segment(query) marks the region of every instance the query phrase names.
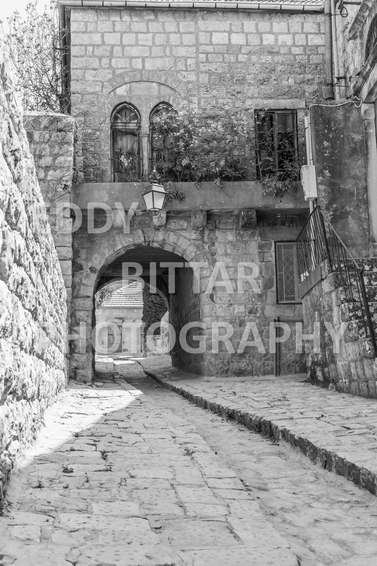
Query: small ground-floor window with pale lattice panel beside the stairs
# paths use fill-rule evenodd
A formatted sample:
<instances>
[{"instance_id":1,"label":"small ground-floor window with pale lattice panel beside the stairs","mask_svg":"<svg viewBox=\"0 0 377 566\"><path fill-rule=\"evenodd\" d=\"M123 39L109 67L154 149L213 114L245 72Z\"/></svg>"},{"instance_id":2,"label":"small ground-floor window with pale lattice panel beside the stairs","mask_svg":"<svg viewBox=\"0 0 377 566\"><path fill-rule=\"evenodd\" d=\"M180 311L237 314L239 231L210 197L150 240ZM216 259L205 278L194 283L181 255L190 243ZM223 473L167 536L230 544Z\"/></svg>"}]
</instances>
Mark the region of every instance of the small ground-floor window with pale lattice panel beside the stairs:
<instances>
[{"instance_id":1,"label":"small ground-floor window with pale lattice panel beside the stairs","mask_svg":"<svg viewBox=\"0 0 377 566\"><path fill-rule=\"evenodd\" d=\"M278 303L300 303L296 242L275 242Z\"/></svg>"}]
</instances>

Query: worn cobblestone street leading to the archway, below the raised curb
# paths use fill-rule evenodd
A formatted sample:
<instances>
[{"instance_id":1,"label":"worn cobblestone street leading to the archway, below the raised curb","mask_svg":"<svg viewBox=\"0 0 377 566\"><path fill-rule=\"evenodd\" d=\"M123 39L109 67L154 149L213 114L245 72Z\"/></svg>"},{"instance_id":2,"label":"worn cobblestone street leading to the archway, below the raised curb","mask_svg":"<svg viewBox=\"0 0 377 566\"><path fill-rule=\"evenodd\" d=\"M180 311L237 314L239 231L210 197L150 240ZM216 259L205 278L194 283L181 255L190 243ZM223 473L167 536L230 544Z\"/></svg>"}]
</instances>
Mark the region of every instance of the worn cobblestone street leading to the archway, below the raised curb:
<instances>
[{"instance_id":1,"label":"worn cobblestone street leading to the archway, below the raised curb","mask_svg":"<svg viewBox=\"0 0 377 566\"><path fill-rule=\"evenodd\" d=\"M375 496L116 368L47 411L11 481L2 565L375 564Z\"/></svg>"}]
</instances>

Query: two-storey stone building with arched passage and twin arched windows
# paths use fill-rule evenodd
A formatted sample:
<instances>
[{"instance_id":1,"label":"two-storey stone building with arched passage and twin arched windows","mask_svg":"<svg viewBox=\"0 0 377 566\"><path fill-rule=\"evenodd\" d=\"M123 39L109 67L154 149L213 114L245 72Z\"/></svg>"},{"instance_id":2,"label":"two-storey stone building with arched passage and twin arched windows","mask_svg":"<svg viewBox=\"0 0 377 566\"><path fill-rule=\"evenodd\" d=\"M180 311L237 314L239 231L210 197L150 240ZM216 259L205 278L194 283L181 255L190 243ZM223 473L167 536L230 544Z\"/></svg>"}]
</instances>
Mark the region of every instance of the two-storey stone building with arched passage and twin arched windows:
<instances>
[{"instance_id":1,"label":"two-storey stone building with arched passage and twin arched windows","mask_svg":"<svg viewBox=\"0 0 377 566\"><path fill-rule=\"evenodd\" d=\"M303 354L296 353L293 338L278 345L278 351L270 351L270 341L271 333L275 339L274 324L287 323L293 336L296 322L302 321L294 241L309 205L297 183L296 192L278 197L263 189L260 155L253 144L258 138L255 117L267 111L276 147L278 139L289 138L289 149L306 160L305 112L329 88L322 2L199 1L188 6L151 1L140 7L137 2L126 6L105 0L93 8L86 0L80 5L59 0L59 6L62 25L70 31L66 86L83 138L84 182L72 192L83 223L73 233L71 335L78 335L80 323L92 328L94 293L105 282L122 278L123 262L140 263L146 281L154 262L176 336L187 331L188 349L178 341L172 350L175 366L216 375L304 371ZM145 183L129 182L137 179L123 174L121 158L132 153L138 176L148 174L158 153L151 140L155 117L162 108L174 112L182 106L200 115L240 112L249 120L248 140L237 140L245 171L239 180L220 186L175 182L185 200L172 200L152 218L142 212ZM140 205L127 234L118 209L122 205L128 211L135 201ZM98 203L113 213L107 231L101 231L105 220ZM86 223L86 211L93 207L97 234L96 228L88 233ZM175 293L167 289L166 262L185 266L176 268ZM195 274L189 262L202 264L200 293L193 293ZM249 282L239 290L242 264L249 280L255 278L258 292ZM220 285L222 265L231 292ZM216 339L216 333L228 333L224 324L232 327L230 344ZM255 342L245 345L259 338L259 348ZM72 341L72 375L90 380L92 367L88 332L85 351Z\"/></svg>"}]
</instances>

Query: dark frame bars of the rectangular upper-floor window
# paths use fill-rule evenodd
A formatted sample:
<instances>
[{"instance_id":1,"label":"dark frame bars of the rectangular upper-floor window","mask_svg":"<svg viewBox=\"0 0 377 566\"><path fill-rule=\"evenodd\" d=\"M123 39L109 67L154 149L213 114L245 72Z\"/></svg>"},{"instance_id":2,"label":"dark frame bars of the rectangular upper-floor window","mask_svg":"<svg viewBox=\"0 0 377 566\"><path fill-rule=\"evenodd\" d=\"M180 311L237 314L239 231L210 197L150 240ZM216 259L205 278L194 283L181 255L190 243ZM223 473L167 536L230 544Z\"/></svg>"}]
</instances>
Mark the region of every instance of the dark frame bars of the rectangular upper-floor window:
<instances>
[{"instance_id":1,"label":"dark frame bars of the rectangular upper-floor window","mask_svg":"<svg viewBox=\"0 0 377 566\"><path fill-rule=\"evenodd\" d=\"M279 169L279 147L276 144L276 139L278 139L278 135L279 135L279 131L278 131L278 119L277 116L279 114L289 114L292 117L292 125L293 125L293 143L294 143L294 157L295 159L298 161L299 159L299 151L298 151L298 121L297 121L297 110L296 109L292 109L292 108L285 108L285 109L267 109L267 110L262 110L262 109L255 109L254 110L254 135L255 135L255 169L257 170L257 179L258 181L260 181L263 178L263 174L262 174L262 170L261 167L258 165L258 163L262 163L262 158L261 158L261 149L258 147L259 144L259 135L262 134L263 132L261 131L260 125L258 125L258 114L259 113L264 113L265 115L272 115L273 118L273 122L272 122L272 127L274 129L274 160L275 160L275 174L279 174L279 170L281 171L281 169ZM288 130L287 130L288 133ZM297 179L298 181L298 176Z\"/></svg>"}]
</instances>

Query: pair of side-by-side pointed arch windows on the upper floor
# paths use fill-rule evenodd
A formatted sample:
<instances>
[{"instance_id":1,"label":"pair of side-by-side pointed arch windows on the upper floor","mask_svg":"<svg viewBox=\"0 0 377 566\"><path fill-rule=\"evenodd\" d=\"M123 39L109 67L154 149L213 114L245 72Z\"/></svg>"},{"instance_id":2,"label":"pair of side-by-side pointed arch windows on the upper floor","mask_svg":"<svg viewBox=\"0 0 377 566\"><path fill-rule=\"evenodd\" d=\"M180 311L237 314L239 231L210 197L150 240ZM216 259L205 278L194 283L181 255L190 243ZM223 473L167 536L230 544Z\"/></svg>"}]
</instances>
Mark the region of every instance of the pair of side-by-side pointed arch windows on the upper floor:
<instances>
[{"instance_id":1,"label":"pair of side-by-side pointed arch windows on the upper floor","mask_svg":"<svg viewBox=\"0 0 377 566\"><path fill-rule=\"evenodd\" d=\"M175 147L174 108L161 102L149 115L148 157L143 156L141 116L132 104L117 106L111 117L111 177L118 183L138 181L144 173L144 162L149 171L156 169L168 180ZM144 137L144 135L143 135Z\"/></svg>"}]
</instances>

